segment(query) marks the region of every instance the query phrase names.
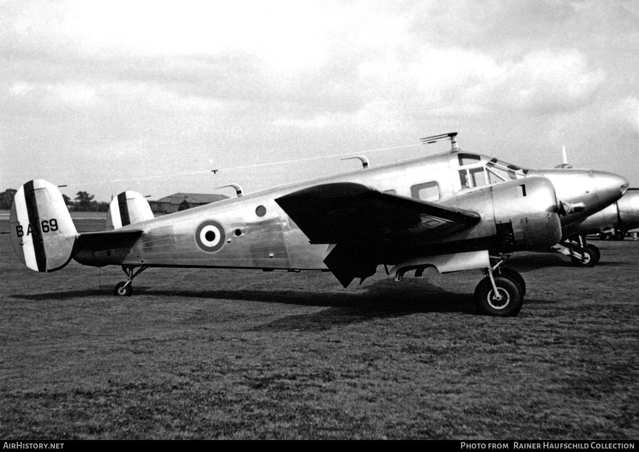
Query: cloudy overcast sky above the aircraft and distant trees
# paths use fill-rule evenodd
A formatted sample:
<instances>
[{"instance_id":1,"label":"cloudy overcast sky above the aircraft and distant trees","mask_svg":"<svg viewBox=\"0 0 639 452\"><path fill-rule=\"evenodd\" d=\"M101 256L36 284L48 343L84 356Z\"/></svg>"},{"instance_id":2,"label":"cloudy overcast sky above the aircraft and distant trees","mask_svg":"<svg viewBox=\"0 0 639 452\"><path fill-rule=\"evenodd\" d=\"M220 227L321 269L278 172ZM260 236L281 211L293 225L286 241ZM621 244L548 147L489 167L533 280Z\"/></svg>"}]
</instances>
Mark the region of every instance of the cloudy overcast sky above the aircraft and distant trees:
<instances>
[{"instance_id":1,"label":"cloudy overcast sky above the aircraft and distant trees","mask_svg":"<svg viewBox=\"0 0 639 452\"><path fill-rule=\"evenodd\" d=\"M639 186L638 4L0 0L0 190L250 193L445 132Z\"/></svg>"}]
</instances>

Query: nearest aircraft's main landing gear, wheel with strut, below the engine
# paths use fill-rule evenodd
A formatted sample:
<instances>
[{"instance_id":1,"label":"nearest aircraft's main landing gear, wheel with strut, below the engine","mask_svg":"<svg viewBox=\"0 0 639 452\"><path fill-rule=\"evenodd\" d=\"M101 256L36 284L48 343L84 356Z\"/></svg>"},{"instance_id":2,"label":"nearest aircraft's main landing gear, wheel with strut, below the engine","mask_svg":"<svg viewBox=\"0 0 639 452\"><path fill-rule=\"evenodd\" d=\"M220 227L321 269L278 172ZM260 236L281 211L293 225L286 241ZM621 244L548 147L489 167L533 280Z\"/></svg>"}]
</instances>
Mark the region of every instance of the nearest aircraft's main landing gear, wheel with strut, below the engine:
<instances>
[{"instance_id":1,"label":"nearest aircraft's main landing gear, wheel with strut, below the engine","mask_svg":"<svg viewBox=\"0 0 639 452\"><path fill-rule=\"evenodd\" d=\"M526 283L518 272L501 268L502 262L484 270L485 277L475 289L475 306L486 315L515 317L523 306Z\"/></svg>"}]
</instances>

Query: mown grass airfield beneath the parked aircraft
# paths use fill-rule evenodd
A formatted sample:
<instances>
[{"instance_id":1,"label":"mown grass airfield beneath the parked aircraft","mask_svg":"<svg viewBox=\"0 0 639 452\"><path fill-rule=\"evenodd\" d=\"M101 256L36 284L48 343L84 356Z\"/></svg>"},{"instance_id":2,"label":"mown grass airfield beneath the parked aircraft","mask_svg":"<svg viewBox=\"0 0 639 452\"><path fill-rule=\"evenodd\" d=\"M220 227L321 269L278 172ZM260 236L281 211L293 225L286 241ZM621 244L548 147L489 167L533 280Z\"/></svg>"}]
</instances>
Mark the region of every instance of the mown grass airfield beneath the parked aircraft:
<instances>
[{"instance_id":1,"label":"mown grass airfield beneath the parked aircraft","mask_svg":"<svg viewBox=\"0 0 639 452\"><path fill-rule=\"evenodd\" d=\"M116 298L119 268L38 274L2 234L0 437L638 439L639 242L593 243L596 268L513 255L498 319L479 271L148 269Z\"/></svg>"}]
</instances>

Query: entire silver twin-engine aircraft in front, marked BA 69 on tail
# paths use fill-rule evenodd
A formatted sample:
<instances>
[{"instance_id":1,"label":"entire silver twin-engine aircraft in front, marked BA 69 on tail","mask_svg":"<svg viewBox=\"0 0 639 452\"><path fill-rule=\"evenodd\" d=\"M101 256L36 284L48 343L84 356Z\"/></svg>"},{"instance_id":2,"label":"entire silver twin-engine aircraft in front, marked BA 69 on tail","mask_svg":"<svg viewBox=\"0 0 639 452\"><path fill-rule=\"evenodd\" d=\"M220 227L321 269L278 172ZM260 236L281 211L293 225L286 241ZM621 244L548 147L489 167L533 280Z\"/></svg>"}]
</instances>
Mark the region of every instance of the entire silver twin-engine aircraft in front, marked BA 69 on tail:
<instances>
[{"instance_id":1,"label":"entire silver twin-engine aircraft in front, marked BA 69 on tail","mask_svg":"<svg viewBox=\"0 0 639 452\"><path fill-rule=\"evenodd\" d=\"M480 312L520 311L522 276L502 268L505 253L557 244L562 230L617 201L628 183L608 172L526 170L457 146L376 168L352 170L221 200L153 218L135 192L114 198L104 231L78 233L56 186L36 179L20 187L11 212L12 242L27 267L61 269L71 259L121 266L132 281L149 267L323 270L347 287L378 266L396 281L481 269ZM235 186L235 185L234 185Z\"/></svg>"}]
</instances>

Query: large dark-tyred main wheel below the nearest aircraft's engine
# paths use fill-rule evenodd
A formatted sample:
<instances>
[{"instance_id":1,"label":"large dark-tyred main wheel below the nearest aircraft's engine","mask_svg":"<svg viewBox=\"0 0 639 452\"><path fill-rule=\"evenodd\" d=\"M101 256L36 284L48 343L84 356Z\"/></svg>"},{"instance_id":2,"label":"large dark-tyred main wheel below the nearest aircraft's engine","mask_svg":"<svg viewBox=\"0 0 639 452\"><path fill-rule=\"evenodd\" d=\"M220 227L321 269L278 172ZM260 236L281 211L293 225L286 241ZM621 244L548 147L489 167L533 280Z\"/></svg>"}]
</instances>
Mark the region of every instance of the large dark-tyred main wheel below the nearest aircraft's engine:
<instances>
[{"instance_id":1,"label":"large dark-tyred main wheel below the nearest aircraft's engine","mask_svg":"<svg viewBox=\"0 0 639 452\"><path fill-rule=\"evenodd\" d=\"M495 276L502 299L497 299L490 278L482 279L475 289L475 305L479 312L495 317L515 317L523 305L523 295L516 282L507 276Z\"/></svg>"}]
</instances>

